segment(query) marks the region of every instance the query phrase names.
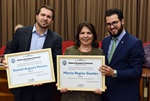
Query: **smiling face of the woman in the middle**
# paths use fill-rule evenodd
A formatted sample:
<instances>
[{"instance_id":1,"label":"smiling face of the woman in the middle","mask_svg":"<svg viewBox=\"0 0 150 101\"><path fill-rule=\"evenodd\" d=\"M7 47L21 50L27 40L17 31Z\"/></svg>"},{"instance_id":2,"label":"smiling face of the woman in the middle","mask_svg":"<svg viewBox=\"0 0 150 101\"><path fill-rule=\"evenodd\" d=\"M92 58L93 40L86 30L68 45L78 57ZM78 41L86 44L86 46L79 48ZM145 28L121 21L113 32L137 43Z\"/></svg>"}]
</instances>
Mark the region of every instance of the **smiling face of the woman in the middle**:
<instances>
[{"instance_id":1,"label":"smiling face of the woman in the middle","mask_svg":"<svg viewBox=\"0 0 150 101\"><path fill-rule=\"evenodd\" d=\"M87 27L84 26L79 34L79 40L81 42L81 45L91 46L91 43L93 41L92 32Z\"/></svg>"}]
</instances>

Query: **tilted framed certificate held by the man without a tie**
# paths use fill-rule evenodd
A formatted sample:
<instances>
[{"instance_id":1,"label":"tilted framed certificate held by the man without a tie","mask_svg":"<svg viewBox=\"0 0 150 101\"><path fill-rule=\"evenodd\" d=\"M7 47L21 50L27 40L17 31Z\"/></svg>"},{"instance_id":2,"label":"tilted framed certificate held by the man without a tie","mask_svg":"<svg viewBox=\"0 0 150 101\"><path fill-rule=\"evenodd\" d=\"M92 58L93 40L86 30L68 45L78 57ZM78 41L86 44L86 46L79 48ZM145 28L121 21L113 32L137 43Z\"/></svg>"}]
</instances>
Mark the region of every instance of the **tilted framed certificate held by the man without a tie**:
<instances>
[{"instance_id":1,"label":"tilted framed certificate held by the man without a tie","mask_svg":"<svg viewBox=\"0 0 150 101\"><path fill-rule=\"evenodd\" d=\"M6 54L9 88L55 82L51 49Z\"/></svg>"}]
</instances>

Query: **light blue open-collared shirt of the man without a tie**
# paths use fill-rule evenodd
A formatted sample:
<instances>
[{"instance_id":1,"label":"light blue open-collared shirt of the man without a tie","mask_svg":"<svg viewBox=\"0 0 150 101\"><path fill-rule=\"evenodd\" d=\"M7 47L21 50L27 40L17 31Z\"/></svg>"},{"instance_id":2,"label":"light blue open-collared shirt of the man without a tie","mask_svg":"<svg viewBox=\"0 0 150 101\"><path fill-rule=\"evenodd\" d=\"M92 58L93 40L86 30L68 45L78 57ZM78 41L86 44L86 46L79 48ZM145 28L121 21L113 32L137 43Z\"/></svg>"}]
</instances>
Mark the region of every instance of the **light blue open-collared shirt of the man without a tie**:
<instances>
[{"instance_id":1,"label":"light blue open-collared shirt of the man without a tie","mask_svg":"<svg viewBox=\"0 0 150 101\"><path fill-rule=\"evenodd\" d=\"M38 34L34 25L33 30L32 30L30 51L42 49L46 35L47 35L47 30L43 34Z\"/></svg>"}]
</instances>

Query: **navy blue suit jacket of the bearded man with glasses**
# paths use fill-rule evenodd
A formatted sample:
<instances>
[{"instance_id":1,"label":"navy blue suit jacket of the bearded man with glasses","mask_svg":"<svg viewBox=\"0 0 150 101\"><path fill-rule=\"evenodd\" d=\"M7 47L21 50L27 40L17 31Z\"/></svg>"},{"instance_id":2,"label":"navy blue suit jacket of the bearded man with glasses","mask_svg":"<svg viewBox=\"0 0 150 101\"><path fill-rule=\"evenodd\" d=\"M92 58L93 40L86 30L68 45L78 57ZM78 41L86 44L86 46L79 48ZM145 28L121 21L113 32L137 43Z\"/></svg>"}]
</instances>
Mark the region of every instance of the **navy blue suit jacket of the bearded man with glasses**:
<instances>
[{"instance_id":1,"label":"navy blue suit jacket of the bearded man with glasses","mask_svg":"<svg viewBox=\"0 0 150 101\"><path fill-rule=\"evenodd\" d=\"M117 70L117 77L106 76L107 90L102 94L104 101L139 101L139 79L144 62L142 42L127 31L118 44L114 56L108 63L107 55L111 36L102 42L106 65Z\"/></svg>"}]
</instances>

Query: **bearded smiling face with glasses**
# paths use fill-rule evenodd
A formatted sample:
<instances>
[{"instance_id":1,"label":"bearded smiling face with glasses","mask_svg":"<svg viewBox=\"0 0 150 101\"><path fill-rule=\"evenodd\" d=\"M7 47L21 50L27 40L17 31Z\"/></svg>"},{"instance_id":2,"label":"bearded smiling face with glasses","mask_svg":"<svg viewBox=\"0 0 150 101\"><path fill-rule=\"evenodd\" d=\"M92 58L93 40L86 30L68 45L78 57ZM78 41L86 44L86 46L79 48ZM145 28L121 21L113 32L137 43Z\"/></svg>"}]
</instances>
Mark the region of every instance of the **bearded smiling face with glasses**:
<instances>
[{"instance_id":1,"label":"bearded smiling face with glasses","mask_svg":"<svg viewBox=\"0 0 150 101\"><path fill-rule=\"evenodd\" d=\"M124 21L120 21L117 14L106 16L106 28L111 36L119 36L123 31L123 25Z\"/></svg>"}]
</instances>

